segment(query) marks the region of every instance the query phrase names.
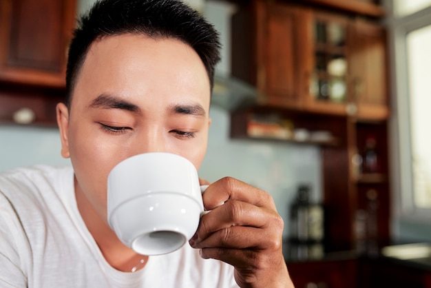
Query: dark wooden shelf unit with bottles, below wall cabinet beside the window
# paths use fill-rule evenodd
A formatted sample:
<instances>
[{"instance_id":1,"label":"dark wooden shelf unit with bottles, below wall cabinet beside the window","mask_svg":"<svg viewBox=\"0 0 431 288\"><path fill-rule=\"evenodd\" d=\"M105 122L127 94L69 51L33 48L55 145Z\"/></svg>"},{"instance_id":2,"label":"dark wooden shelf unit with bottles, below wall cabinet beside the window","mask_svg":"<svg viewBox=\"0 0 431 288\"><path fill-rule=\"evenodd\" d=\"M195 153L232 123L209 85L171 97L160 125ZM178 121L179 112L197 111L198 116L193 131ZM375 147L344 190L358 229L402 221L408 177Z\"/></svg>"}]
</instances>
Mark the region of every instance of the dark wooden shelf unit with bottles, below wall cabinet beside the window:
<instances>
[{"instance_id":1,"label":"dark wooden shelf unit with bottles, below wall cabinet beside the window","mask_svg":"<svg viewBox=\"0 0 431 288\"><path fill-rule=\"evenodd\" d=\"M326 248L375 256L390 242L388 124L348 117L344 130L346 146L322 148ZM367 160L370 141L374 158ZM366 169L366 161L374 168Z\"/></svg>"}]
</instances>

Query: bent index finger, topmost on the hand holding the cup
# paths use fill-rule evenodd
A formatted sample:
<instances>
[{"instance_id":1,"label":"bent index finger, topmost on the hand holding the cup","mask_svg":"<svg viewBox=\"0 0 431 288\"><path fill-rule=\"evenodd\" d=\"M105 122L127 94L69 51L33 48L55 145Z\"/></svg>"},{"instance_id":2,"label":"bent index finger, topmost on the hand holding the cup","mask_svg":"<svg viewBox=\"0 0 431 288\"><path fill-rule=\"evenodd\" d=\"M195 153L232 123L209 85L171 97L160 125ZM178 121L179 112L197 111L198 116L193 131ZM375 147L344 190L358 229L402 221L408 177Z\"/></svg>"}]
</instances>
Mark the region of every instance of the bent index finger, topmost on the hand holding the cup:
<instances>
[{"instance_id":1,"label":"bent index finger, topmost on the hand holding the cup","mask_svg":"<svg viewBox=\"0 0 431 288\"><path fill-rule=\"evenodd\" d=\"M209 185L203 200L205 208L209 210L227 200L239 200L258 207L275 209L273 198L267 192L231 177L224 177Z\"/></svg>"}]
</instances>

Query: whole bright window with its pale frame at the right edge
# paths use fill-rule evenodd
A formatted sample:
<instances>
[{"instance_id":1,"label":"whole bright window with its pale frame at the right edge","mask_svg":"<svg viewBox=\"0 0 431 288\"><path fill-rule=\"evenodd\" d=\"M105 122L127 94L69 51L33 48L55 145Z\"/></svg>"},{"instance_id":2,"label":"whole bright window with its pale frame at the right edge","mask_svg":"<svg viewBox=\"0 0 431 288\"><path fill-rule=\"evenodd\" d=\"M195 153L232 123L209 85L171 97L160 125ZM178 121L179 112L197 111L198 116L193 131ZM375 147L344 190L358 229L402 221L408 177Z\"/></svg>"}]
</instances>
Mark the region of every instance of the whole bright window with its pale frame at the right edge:
<instances>
[{"instance_id":1,"label":"whole bright window with its pale frame at the right edge","mask_svg":"<svg viewBox=\"0 0 431 288\"><path fill-rule=\"evenodd\" d=\"M430 6L431 0L392 0L394 17L388 20L397 96L392 118L399 143L392 155L397 159L392 190L399 196L398 216L423 223L431 216Z\"/></svg>"}]
</instances>

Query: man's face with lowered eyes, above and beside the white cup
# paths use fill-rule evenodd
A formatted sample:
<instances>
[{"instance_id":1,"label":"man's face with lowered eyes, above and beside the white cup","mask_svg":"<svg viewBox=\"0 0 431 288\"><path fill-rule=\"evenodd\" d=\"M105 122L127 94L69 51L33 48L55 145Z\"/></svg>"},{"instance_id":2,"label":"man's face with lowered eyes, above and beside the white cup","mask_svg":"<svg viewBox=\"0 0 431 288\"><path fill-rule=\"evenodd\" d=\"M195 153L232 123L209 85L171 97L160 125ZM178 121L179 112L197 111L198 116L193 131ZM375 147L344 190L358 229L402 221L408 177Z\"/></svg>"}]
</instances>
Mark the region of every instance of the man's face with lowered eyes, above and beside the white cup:
<instances>
[{"instance_id":1,"label":"man's face with lowered eyes, above and beside the white cup","mask_svg":"<svg viewBox=\"0 0 431 288\"><path fill-rule=\"evenodd\" d=\"M106 219L107 175L125 158L171 152L198 169L207 149L209 101L207 72L189 45L132 34L95 41L70 114L64 106L57 110L75 189Z\"/></svg>"}]
</instances>

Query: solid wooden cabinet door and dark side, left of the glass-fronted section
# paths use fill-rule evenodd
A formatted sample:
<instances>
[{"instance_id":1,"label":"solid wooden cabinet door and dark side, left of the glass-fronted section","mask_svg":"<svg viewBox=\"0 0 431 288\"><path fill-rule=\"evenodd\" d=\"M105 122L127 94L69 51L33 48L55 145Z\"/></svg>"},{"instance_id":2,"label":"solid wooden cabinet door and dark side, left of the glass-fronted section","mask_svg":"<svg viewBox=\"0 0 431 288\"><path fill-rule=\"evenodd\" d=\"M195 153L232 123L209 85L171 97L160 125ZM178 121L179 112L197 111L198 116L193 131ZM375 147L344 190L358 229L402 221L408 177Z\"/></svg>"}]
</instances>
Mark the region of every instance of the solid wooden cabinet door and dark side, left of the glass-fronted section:
<instances>
[{"instance_id":1,"label":"solid wooden cabinet door and dark side, left of the glass-fronted section","mask_svg":"<svg viewBox=\"0 0 431 288\"><path fill-rule=\"evenodd\" d=\"M253 1L232 17L232 74L267 96L266 103L302 107L304 10Z\"/></svg>"}]
</instances>

